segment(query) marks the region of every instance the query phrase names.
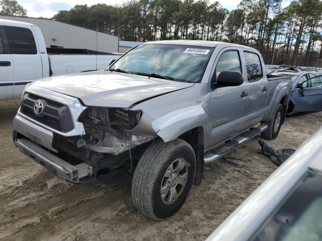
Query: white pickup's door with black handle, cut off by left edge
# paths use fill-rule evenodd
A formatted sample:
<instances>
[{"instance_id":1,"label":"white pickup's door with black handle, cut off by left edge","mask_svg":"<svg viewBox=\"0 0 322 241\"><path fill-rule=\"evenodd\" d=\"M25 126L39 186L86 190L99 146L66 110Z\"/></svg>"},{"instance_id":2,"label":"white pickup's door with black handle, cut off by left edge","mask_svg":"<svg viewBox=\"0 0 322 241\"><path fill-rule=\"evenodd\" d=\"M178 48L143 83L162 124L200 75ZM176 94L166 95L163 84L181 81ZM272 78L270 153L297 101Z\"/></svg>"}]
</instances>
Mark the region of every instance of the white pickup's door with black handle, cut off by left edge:
<instances>
[{"instance_id":1,"label":"white pickup's door with black handle, cut off by left edge","mask_svg":"<svg viewBox=\"0 0 322 241\"><path fill-rule=\"evenodd\" d=\"M6 32L0 22L0 99L12 97L14 92L14 63Z\"/></svg>"}]
</instances>

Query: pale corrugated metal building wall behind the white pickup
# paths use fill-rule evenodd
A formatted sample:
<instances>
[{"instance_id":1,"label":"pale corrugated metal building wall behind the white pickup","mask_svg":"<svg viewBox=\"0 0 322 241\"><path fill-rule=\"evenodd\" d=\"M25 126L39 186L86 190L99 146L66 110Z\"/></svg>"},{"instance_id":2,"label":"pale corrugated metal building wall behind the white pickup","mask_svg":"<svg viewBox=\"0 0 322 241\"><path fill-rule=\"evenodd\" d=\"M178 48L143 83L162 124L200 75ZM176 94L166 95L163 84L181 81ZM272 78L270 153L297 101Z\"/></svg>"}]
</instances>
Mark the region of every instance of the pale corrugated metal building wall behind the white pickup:
<instances>
[{"instance_id":1,"label":"pale corrugated metal building wall behind the white pickup","mask_svg":"<svg viewBox=\"0 0 322 241\"><path fill-rule=\"evenodd\" d=\"M119 38L117 36L48 19L14 16L0 16L0 19L26 22L38 26L44 36L46 47L56 45L64 48L118 52Z\"/></svg>"}]
</instances>

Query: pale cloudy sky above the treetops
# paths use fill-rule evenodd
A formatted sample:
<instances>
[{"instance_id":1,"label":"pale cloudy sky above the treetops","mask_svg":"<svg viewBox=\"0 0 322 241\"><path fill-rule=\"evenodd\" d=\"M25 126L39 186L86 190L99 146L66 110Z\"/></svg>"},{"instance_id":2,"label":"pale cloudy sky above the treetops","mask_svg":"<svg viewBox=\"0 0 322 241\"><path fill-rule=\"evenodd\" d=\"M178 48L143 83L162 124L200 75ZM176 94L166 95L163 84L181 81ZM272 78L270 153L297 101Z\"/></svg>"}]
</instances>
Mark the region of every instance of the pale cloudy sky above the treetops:
<instances>
[{"instance_id":1,"label":"pale cloudy sky above the treetops","mask_svg":"<svg viewBox=\"0 0 322 241\"><path fill-rule=\"evenodd\" d=\"M94 4L107 4L107 5L116 5L127 2L127 0L18 0L18 3L27 9L28 17L44 17L51 18L59 10L68 10L76 4L87 4L88 6ZM210 0L210 3L215 2L215 0ZM219 0L221 5L228 9L232 10L236 8L240 0Z\"/></svg>"}]
</instances>

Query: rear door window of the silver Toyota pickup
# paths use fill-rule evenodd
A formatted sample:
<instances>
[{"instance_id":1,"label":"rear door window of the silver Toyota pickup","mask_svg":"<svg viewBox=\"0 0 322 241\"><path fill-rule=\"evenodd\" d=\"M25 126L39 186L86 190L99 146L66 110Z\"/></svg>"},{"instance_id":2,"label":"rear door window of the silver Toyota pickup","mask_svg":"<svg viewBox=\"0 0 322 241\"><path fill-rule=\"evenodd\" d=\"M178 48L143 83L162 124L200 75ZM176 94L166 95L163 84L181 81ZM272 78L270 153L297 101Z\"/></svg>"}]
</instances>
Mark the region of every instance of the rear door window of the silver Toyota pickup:
<instances>
[{"instance_id":1,"label":"rear door window of the silver Toyota pickup","mask_svg":"<svg viewBox=\"0 0 322 241\"><path fill-rule=\"evenodd\" d=\"M248 80L252 82L263 78L260 57L257 54L249 52L244 52L244 55L246 60Z\"/></svg>"}]
</instances>

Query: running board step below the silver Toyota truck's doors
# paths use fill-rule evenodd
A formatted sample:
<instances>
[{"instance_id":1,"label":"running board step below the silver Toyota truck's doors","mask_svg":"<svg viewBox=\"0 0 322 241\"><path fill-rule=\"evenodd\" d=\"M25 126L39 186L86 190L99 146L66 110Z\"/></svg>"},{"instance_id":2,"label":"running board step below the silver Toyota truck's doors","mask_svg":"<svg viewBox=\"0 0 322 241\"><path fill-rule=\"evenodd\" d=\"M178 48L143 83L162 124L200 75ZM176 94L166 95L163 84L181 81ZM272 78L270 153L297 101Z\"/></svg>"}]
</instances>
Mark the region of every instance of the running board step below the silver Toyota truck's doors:
<instances>
[{"instance_id":1,"label":"running board step below the silver Toyota truck's doors","mask_svg":"<svg viewBox=\"0 0 322 241\"><path fill-rule=\"evenodd\" d=\"M223 145L215 149L212 149L210 152L205 153L204 155L205 164L218 160L222 156L234 150L235 147L238 146L239 144L244 143L252 139L253 137L256 137L266 129L267 129L267 124L261 124L259 127L251 128L249 131L241 133L233 140L228 140Z\"/></svg>"}]
</instances>

